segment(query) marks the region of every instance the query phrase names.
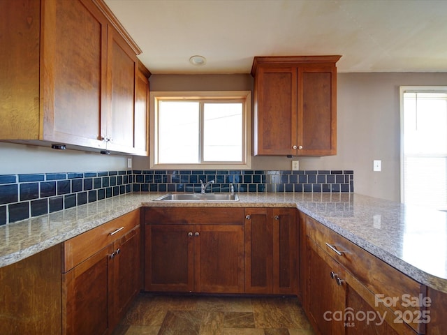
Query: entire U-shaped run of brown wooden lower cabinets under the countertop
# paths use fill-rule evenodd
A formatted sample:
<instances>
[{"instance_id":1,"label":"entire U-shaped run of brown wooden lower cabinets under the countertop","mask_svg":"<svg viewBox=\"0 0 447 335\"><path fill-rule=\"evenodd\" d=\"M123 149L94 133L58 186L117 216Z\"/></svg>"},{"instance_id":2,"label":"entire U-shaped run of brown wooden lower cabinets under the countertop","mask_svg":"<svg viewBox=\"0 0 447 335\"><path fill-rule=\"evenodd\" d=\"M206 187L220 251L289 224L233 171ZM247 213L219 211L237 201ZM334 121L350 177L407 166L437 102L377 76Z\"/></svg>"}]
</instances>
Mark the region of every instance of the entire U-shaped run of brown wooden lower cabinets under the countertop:
<instances>
[{"instance_id":1,"label":"entire U-shaped run of brown wooden lower cabinets under the countertop","mask_svg":"<svg viewBox=\"0 0 447 335\"><path fill-rule=\"evenodd\" d=\"M298 292L316 334L446 334L446 293L295 209L142 211L2 267L0 334L110 334L138 294L142 272L148 291ZM404 294L429 304L404 306ZM387 297L400 301L386 306Z\"/></svg>"}]
</instances>

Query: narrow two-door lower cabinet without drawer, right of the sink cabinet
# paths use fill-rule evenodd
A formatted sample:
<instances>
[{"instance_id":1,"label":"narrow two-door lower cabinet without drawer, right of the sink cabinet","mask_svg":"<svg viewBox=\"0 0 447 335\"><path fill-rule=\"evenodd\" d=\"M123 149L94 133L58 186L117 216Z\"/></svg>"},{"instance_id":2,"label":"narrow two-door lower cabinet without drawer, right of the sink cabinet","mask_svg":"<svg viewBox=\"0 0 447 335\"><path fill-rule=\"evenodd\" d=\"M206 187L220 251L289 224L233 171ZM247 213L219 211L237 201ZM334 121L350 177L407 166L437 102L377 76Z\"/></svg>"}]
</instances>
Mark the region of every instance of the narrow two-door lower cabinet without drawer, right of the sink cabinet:
<instances>
[{"instance_id":1,"label":"narrow two-door lower cabinet without drawer, right of the sink cabinet","mask_svg":"<svg viewBox=\"0 0 447 335\"><path fill-rule=\"evenodd\" d=\"M298 294L296 209L246 208L245 292Z\"/></svg>"}]
</instances>

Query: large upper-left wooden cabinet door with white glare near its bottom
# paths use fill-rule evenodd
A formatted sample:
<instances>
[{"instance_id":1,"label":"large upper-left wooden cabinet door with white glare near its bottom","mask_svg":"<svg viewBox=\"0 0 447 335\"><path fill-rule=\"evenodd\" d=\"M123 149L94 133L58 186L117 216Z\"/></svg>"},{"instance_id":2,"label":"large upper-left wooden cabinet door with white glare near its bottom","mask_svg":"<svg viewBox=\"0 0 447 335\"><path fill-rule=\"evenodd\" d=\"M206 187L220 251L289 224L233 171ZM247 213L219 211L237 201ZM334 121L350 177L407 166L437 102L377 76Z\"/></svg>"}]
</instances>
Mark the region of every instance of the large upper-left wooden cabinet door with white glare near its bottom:
<instances>
[{"instance_id":1,"label":"large upper-left wooden cabinet door with white glare near its bottom","mask_svg":"<svg viewBox=\"0 0 447 335\"><path fill-rule=\"evenodd\" d=\"M104 147L107 20L91 1L44 1L41 139Z\"/></svg>"}]
</instances>

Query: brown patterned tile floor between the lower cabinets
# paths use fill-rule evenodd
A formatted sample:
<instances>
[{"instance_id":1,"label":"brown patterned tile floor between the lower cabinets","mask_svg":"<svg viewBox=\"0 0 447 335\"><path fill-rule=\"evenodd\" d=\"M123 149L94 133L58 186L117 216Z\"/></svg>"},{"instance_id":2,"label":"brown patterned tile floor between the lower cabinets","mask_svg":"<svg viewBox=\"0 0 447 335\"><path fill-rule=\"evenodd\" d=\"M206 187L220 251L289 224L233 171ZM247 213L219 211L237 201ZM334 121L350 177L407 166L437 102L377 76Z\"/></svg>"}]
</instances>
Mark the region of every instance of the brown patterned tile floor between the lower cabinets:
<instances>
[{"instance_id":1,"label":"brown patterned tile floor between the lower cabinets","mask_svg":"<svg viewBox=\"0 0 447 335\"><path fill-rule=\"evenodd\" d=\"M141 293L113 335L314 335L294 297Z\"/></svg>"}]
</instances>

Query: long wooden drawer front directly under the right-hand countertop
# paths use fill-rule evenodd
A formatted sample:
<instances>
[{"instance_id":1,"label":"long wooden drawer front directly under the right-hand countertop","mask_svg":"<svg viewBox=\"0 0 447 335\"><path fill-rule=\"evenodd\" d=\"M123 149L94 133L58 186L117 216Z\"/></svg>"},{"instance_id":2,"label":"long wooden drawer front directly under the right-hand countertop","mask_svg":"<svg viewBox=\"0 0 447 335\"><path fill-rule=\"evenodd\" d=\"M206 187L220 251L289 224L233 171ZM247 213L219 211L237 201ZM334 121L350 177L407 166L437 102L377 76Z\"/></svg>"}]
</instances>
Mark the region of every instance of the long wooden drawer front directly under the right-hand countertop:
<instances>
[{"instance_id":1,"label":"long wooden drawer front directly under the right-hand countertop","mask_svg":"<svg viewBox=\"0 0 447 335\"><path fill-rule=\"evenodd\" d=\"M411 305L417 304L416 300L413 299L426 296L427 292L424 285L413 281L402 272L318 223L313 218L307 217L306 223L306 234L309 239L314 240L330 257L342 264L354 278L365 285L375 295L376 304L384 304L392 311L397 311L397 316L402 316L402 313L405 312L406 314L403 316L406 317L411 313L411 318L406 318L404 321L417 319L419 311L423 310L424 307ZM420 304L423 304L422 300L420 300ZM423 326L421 323L411 324L411 327L419 331L422 330L421 326Z\"/></svg>"}]
</instances>

